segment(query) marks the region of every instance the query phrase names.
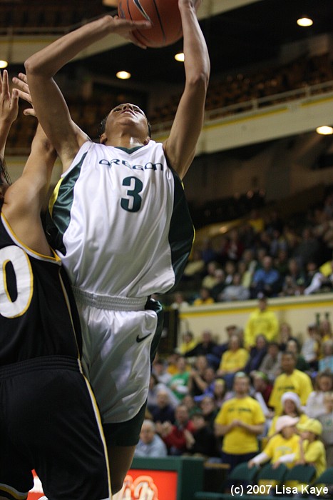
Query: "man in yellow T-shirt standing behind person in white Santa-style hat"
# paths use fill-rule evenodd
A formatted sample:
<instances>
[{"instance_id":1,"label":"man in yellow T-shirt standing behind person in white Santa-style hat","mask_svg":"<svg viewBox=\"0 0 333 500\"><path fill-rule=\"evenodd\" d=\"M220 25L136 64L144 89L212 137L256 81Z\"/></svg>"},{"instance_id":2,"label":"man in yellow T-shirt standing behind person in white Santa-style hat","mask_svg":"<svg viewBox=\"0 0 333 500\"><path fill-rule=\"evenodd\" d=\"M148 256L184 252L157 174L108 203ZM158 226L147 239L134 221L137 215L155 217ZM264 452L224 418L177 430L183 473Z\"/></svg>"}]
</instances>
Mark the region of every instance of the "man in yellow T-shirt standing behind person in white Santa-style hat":
<instances>
[{"instance_id":1,"label":"man in yellow T-shirt standing behind person in white Santa-style hat","mask_svg":"<svg viewBox=\"0 0 333 500\"><path fill-rule=\"evenodd\" d=\"M307 403L309 394L313 391L309 375L295 369L296 356L292 352L284 352L281 358L282 374L275 379L268 406L274 408L275 415L282 413L281 397L287 391L298 394L302 406Z\"/></svg>"}]
</instances>

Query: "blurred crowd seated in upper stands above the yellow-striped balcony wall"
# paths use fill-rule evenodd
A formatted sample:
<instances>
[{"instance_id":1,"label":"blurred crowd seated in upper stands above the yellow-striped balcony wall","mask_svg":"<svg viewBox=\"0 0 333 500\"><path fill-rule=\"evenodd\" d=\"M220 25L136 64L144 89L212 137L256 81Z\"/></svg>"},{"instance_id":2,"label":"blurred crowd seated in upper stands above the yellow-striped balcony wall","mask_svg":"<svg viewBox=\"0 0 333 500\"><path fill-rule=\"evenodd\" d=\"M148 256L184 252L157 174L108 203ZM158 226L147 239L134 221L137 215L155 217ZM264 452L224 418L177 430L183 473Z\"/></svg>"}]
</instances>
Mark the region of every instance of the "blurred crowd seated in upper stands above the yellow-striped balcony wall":
<instances>
[{"instance_id":1,"label":"blurred crowd seated in upper stands above the yellow-striped balcony wall","mask_svg":"<svg viewBox=\"0 0 333 500\"><path fill-rule=\"evenodd\" d=\"M333 289L333 194L286 220L252 210L223 236L195 244L178 291L180 304L300 296Z\"/></svg>"}]
</instances>

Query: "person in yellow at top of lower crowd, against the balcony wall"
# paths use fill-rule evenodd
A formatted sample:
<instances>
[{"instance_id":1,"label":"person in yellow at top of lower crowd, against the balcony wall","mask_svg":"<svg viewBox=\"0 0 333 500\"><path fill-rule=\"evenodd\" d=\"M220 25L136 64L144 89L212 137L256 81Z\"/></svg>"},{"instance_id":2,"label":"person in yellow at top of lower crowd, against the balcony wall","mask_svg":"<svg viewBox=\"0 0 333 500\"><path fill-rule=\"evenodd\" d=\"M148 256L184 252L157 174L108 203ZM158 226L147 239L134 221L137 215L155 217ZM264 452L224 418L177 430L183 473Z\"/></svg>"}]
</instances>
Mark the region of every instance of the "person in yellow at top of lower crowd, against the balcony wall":
<instances>
[{"instance_id":1,"label":"person in yellow at top of lower crowd, against the balcony wall","mask_svg":"<svg viewBox=\"0 0 333 500\"><path fill-rule=\"evenodd\" d=\"M245 324L245 346L247 349L255 346L255 339L259 334L264 335L269 342L275 340L278 331L277 315L268 309L266 297L260 296L257 309L250 314Z\"/></svg>"}]
</instances>

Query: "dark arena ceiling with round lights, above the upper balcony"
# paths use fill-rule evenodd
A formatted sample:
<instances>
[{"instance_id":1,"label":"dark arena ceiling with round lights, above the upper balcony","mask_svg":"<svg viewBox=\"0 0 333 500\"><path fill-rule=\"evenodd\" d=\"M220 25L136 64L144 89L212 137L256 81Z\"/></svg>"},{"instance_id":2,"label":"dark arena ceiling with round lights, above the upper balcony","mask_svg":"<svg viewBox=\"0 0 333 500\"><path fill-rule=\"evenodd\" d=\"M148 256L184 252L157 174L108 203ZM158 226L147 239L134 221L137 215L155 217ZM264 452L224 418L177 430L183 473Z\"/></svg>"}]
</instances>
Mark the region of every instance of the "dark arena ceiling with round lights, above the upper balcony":
<instances>
[{"instance_id":1,"label":"dark arena ceiling with round lights, above the upper balcony","mask_svg":"<svg viewBox=\"0 0 333 500\"><path fill-rule=\"evenodd\" d=\"M42 8L40 1L31 0L30 4L31 9ZM30 4L24 0L0 0L0 29L6 28L4 18L1 19L1 6L11 5L13 9L24 6L26 9ZM57 0L56 4L68 6L68 0ZM70 4L83 4L87 18L116 12L113 7L104 6L102 0L72 0ZM43 5L47 10L51 5L54 7L54 1L44 0ZM237 5L242 6L232 8ZM284 44L307 41L324 33L332 35L333 31L332 0L203 0L199 14L210 11L218 14L200 19L200 24L208 42L212 76L270 61L278 56ZM314 20L309 28L296 24L297 19L305 15ZM147 51L123 44L89 56L84 65L96 76L110 78L118 70L130 71L133 86L153 84L154 81L177 84L183 82L183 64L177 63L173 56L181 49L182 41L164 49Z\"/></svg>"}]
</instances>

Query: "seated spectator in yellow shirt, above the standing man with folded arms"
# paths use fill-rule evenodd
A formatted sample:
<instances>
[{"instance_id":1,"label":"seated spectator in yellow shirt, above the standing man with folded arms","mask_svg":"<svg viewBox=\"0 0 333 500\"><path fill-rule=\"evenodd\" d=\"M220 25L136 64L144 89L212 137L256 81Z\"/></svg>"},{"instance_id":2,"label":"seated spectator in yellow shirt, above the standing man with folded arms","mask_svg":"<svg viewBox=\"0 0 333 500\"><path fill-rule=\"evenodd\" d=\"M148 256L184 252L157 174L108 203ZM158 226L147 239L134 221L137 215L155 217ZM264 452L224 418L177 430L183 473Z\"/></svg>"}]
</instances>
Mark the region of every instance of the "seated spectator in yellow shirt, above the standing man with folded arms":
<instances>
[{"instance_id":1,"label":"seated spectator in yellow shirt, above the standing man with folded arms","mask_svg":"<svg viewBox=\"0 0 333 500\"><path fill-rule=\"evenodd\" d=\"M227 389L232 388L233 379L237 371L243 371L249 359L249 353L242 347L238 335L232 335L229 341L229 349L222 354L217 376L225 380Z\"/></svg>"}]
</instances>

